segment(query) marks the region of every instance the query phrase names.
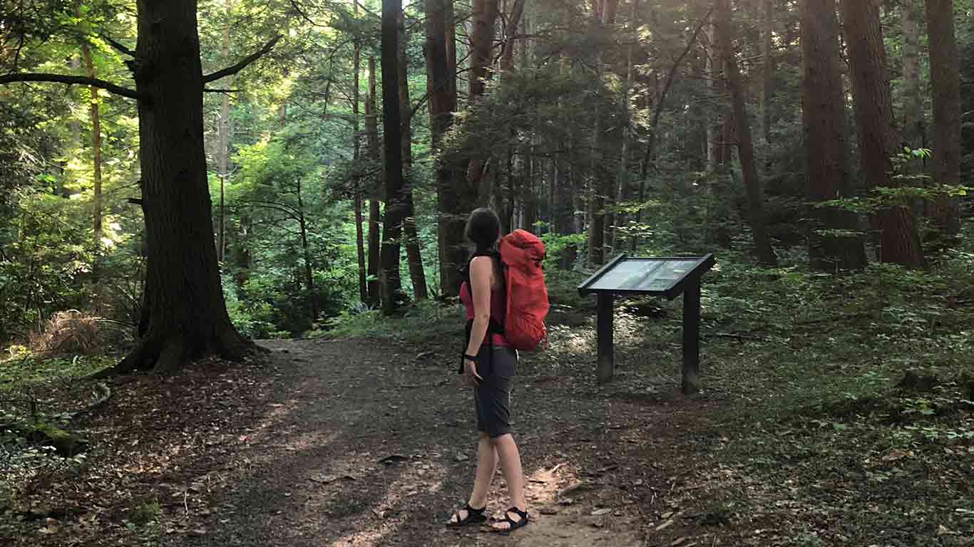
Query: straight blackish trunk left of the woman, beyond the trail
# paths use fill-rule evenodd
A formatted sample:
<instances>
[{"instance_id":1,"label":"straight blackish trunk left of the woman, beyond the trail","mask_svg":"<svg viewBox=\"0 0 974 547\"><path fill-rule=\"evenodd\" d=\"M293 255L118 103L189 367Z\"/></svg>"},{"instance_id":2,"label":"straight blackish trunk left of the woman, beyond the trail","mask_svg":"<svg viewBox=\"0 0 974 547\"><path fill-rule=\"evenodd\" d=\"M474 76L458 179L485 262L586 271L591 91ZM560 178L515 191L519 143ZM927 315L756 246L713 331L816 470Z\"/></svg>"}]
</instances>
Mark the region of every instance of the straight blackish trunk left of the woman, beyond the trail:
<instances>
[{"instance_id":1,"label":"straight blackish trunk left of the woman, beyond the trail","mask_svg":"<svg viewBox=\"0 0 974 547\"><path fill-rule=\"evenodd\" d=\"M402 0L382 1L382 128L386 152L386 215L382 237L382 308L398 310L405 296L399 278L399 240L405 216L402 184L402 122L399 116L399 14Z\"/></svg>"}]
</instances>

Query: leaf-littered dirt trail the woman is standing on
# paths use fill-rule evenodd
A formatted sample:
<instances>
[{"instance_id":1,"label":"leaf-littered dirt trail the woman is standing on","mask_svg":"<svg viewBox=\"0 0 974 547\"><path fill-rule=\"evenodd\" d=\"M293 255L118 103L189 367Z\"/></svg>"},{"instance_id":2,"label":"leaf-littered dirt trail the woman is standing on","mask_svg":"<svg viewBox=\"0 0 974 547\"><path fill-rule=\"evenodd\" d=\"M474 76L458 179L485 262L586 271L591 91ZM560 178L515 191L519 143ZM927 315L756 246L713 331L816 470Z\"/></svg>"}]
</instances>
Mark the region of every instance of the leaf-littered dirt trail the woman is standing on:
<instances>
[{"instance_id":1,"label":"leaf-littered dirt trail the woman is standing on","mask_svg":"<svg viewBox=\"0 0 974 547\"><path fill-rule=\"evenodd\" d=\"M437 348L273 341L270 382L209 507L172 545L652 545L672 409L524 363L513 395L533 523L445 529L472 480L469 393ZM649 451L649 452L648 452ZM205 471L205 469L200 469ZM211 471L211 470L206 470ZM574 487L574 488L573 488ZM568 490L569 492L565 492ZM491 509L506 507L500 475ZM204 531L205 530L205 531ZM668 544L668 543L667 543Z\"/></svg>"}]
</instances>

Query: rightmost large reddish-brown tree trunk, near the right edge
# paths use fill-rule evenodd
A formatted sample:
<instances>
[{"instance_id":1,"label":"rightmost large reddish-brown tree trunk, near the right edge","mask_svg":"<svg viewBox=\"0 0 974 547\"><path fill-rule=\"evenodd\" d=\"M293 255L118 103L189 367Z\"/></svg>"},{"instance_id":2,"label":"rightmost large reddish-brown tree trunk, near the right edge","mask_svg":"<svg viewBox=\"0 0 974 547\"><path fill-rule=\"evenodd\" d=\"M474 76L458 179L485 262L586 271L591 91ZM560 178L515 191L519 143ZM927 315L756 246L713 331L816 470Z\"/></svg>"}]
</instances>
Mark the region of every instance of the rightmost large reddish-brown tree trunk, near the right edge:
<instances>
[{"instance_id":1,"label":"rightmost large reddish-brown tree trunk, near the right edge","mask_svg":"<svg viewBox=\"0 0 974 547\"><path fill-rule=\"evenodd\" d=\"M933 180L955 186L960 183L960 56L953 0L926 0L926 28L933 85ZM960 231L955 198L934 201L930 218L944 235L955 236Z\"/></svg>"}]
</instances>

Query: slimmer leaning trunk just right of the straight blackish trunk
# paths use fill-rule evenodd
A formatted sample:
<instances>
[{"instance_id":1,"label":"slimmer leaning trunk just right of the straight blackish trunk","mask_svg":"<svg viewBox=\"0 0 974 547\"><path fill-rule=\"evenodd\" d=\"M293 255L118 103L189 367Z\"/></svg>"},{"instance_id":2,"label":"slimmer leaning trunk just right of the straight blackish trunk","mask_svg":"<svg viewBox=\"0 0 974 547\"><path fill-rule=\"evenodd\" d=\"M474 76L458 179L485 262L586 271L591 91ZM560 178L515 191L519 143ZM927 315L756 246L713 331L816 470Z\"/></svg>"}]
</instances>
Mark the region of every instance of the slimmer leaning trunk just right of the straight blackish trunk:
<instances>
[{"instance_id":1,"label":"slimmer leaning trunk just right of the straight blackish trunk","mask_svg":"<svg viewBox=\"0 0 974 547\"><path fill-rule=\"evenodd\" d=\"M398 39L398 81L399 81L399 118L402 122L402 165L408 176L403 185L404 218L402 230L405 235L406 261L409 265L409 279L413 283L413 296L417 301L430 298L426 285L426 273L423 271L423 253L420 248L420 237L416 231L416 204L413 201L412 169L413 169L413 131L412 104L409 100L409 57L406 55L406 16L399 13Z\"/></svg>"}]
</instances>

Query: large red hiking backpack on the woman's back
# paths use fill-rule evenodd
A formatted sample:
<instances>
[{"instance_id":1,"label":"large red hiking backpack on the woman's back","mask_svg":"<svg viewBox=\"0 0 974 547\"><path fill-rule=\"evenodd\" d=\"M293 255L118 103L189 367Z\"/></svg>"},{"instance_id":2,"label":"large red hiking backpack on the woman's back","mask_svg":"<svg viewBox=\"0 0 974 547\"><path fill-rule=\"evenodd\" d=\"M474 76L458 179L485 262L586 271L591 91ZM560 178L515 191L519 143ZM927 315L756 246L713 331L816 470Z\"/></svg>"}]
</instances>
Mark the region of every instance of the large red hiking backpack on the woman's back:
<instances>
[{"instance_id":1,"label":"large red hiking backpack on the woman's back","mask_svg":"<svg viewBox=\"0 0 974 547\"><path fill-rule=\"evenodd\" d=\"M507 289L504 337L516 349L535 351L547 339L544 243L530 232L515 230L501 239L499 251Z\"/></svg>"}]
</instances>

